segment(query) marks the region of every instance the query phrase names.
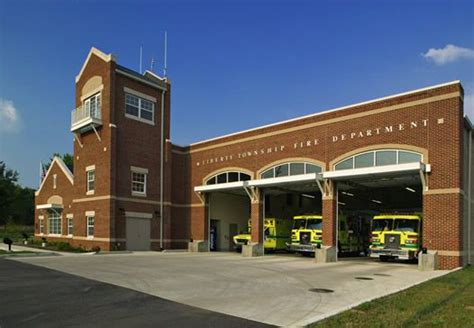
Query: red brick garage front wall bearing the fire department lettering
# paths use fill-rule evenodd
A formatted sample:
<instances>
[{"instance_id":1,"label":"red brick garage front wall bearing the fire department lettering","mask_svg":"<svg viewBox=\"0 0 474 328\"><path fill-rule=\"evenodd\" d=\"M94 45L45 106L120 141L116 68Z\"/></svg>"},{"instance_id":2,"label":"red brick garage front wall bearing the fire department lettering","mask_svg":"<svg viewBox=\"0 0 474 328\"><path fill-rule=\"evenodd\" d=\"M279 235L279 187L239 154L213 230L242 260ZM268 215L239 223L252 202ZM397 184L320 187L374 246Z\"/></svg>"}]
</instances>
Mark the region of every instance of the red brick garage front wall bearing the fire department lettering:
<instances>
[{"instance_id":1,"label":"red brick garage front wall bearing the fire department lettering","mask_svg":"<svg viewBox=\"0 0 474 328\"><path fill-rule=\"evenodd\" d=\"M368 147L372 147L372 149L387 148L388 144L392 145L389 148L417 150L425 155L424 161L432 165L432 172L428 175L430 190L462 188L461 123L463 112L460 97L451 94L455 92L462 95L463 90L460 84L451 84L352 106L339 111L191 145L187 148L191 169L190 190L194 186L202 185L203 179L210 173L225 170L228 167L242 168L257 175L259 170L275 161L308 158L325 163L325 169L329 170L332 169L331 165L334 161L343 157L344 154ZM408 107L406 104L443 95L447 95L449 98L430 100L428 103L411 103ZM400 107L391 111L383 111L389 106ZM377 109L382 109L383 112L362 117L357 116ZM412 122L415 122L416 127L411 125ZM305 124L314 124L315 126L304 126L302 129L278 133ZM390 126L393 132L384 132L385 127ZM367 130L370 130L370 133ZM360 131L363 132L363 137L358 136ZM265 133L273 132L277 133L260 137ZM353 138L351 138L352 132L355 133ZM336 142L333 139L335 136L338 138ZM345 140L342 140L343 138ZM267 151L269 148L272 149L271 152ZM262 150L264 154L260 153ZM256 155L253 154L254 151L257 151ZM242 154L246 152L252 154L244 157ZM446 197L451 198L452 196ZM190 191L190 199L192 204L199 202L198 197L192 191ZM333 213L333 217L335 217L335 208L329 206L332 201L324 201L324 203L326 205L323 205L323 212ZM458 203L453 204L451 201L445 205L447 206L447 204L449 204L447 209L449 215L440 214L436 205L430 205L429 196L426 196L425 220L430 220L432 226L437 226L442 224L448 215L453 222L454 230L448 235L440 236L438 238L440 244L437 247L442 247L443 243L449 241L455 245L446 246L447 248L443 249L457 251L462 242L460 240L461 225L459 224L461 220L460 207ZM202 222L206 220L201 216L202 214L202 212L191 211L191 231L194 234L199 234L198 231L203 227ZM331 226L333 224L334 222ZM426 236L436 234L431 225L430 223L425 225ZM332 237L333 235L334 231L327 232L325 239L328 243L331 243L335 238Z\"/></svg>"}]
</instances>

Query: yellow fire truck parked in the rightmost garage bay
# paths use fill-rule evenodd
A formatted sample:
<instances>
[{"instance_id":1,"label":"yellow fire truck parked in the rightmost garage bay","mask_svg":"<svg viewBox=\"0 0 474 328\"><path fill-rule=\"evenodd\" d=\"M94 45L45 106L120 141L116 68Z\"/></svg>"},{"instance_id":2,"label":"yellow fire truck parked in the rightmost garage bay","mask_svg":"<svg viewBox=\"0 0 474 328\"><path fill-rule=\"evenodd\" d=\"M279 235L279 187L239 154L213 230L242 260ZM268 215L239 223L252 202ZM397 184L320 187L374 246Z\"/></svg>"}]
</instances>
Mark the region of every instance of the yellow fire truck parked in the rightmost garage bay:
<instances>
[{"instance_id":1,"label":"yellow fire truck parked in the rightmost garage bay","mask_svg":"<svg viewBox=\"0 0 474 328\"><path fill-rule=\"evenodd\" d=\"M421 215L386 214L374 216L371 228L370 257L411 260L421 250Z\"/></svg>"}]
</instances>

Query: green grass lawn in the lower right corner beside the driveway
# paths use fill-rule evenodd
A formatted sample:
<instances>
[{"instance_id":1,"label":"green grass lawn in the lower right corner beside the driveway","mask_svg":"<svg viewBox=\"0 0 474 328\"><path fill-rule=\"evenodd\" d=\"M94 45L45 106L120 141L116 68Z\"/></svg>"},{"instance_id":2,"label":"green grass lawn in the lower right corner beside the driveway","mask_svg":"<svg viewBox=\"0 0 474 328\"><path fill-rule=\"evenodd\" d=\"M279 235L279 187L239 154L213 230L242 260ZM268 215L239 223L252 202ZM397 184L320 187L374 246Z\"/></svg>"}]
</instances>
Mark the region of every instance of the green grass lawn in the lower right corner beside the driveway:
<instances>
[{"instance_id":1,"label":"green grass lawn in the lower right corner beside the driveway","mask_svg":"<svg viewBox=\"0 0 474 328\"><path fill-rule=\"evenodd\" d=\"M361 304L309 327L474 327L474 268Z\"/></svg>"}]
</instances>

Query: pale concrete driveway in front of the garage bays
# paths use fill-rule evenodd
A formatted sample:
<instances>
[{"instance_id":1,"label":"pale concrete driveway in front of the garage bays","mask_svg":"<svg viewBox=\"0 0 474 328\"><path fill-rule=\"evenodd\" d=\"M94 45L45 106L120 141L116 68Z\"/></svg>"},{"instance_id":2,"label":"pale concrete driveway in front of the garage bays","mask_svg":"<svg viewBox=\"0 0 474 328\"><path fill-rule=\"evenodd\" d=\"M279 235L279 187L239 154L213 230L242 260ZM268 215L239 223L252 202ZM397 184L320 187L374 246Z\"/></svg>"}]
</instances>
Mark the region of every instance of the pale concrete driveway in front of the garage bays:
<instances>
[{"instance_id":1,"label":"pale concrete driveway in front of the garage bays","mask_svg":"<svg viewBox=\"0 0 474 328\"><path fill-rule=\"evenodd\" d=\"M449 271L404 263L234 253L156 253L15 259L279 326L303 326ZM327 289L314 292L312 289Z\"/></svg>"}]
</instances>

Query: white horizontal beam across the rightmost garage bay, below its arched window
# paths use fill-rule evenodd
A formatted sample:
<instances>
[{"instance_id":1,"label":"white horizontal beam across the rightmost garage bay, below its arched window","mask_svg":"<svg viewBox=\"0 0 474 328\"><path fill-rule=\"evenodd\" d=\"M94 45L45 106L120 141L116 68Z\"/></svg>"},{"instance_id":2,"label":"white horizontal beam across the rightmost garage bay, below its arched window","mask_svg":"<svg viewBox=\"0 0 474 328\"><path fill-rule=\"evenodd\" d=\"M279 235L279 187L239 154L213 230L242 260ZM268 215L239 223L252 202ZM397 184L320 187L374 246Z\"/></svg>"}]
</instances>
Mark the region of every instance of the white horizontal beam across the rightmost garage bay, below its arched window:
<instances>
[{"instance_id":1,"label":"white horizontal beam across the rightmost garage bay, below its arched window","mask_svg":"<svg viewBox=\"0 0 474 328\"><path fill-rule=\"evenodd\" d=\"M324 179L338 180L343 178L355 178L355 177L371 177L376 175L383 175L388 173L394 174L406 174L420 172L429 172L431 167L429 164L423 164L421 162L416 163L405 163L395 165L383 165L364 167L360 169L349 169L349 170L338 170L338 171L326 171L323 172L322 176Z\"/></svg>"}]
</instances>

